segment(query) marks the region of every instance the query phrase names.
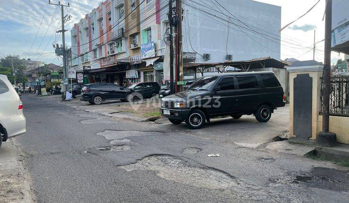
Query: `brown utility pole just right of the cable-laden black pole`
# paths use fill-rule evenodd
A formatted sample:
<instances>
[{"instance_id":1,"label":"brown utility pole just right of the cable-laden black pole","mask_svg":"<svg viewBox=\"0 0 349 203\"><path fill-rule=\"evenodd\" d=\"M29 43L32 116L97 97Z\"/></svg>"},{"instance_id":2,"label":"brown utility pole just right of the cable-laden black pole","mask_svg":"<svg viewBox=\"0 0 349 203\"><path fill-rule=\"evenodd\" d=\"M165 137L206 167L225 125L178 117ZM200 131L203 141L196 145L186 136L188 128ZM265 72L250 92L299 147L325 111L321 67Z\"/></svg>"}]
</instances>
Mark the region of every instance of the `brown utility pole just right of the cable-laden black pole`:
<instances>
[{"instance_id":1,"label":"brown utility pole just right of the cable-laden black pole","mask_svg":"<svg viewBox=\"0 0 349 203\"><path fill-rule=\"evenodd\" d=\"M177 14L177 29L175 34L175 50L176 50L176 80L182 81L181 72L183 72L183 54L182 54L182 0L175 0L176 14ZM181 68L182 67L182 68ZM175 92L180 91L180 87L176 85Z\"/></svg>"}]
</instances>

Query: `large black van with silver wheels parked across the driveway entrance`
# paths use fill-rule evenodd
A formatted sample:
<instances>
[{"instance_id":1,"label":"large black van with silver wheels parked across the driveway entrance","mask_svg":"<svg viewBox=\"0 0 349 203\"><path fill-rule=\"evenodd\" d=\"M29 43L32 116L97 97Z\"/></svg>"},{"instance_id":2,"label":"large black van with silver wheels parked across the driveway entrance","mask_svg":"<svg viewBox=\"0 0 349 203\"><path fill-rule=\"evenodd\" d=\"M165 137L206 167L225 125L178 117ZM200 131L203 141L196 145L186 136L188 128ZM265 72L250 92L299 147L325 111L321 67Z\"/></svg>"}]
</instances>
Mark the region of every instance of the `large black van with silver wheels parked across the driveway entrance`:
<instances>
[{"instance_id":1,"label":"large black van with silver wheels parked across the driveway entrance","mask_svg":"<svg viewBox=\"0 0 349 203\"><path fill-rule=\"evenodd\" d=\"M162 98L160 112L171 123L199 129L210 117L252 115L267 122L285 106L284 90L272 72L222 73L198 78L187 91Z\"/></svg>"}]
</instances>

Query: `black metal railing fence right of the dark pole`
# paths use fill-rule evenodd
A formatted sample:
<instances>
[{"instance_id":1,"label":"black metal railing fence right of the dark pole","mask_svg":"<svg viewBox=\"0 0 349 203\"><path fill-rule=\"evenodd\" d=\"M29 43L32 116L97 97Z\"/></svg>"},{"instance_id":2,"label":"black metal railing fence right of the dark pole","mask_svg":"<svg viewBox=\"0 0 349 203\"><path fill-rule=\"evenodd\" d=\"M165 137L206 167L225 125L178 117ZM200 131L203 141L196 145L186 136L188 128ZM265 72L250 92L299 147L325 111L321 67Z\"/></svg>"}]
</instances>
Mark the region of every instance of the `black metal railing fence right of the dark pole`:
<instances>
[{"instance_id":1,"label":"black metal railing fence right of the dark pole","mask_svg":"<svg viewBox=\"0 0 349 203\"><path fill-rule=\"evenodd\" d=\"M330 84L330 115L349 116L349 76L334 75Z\"/></svg>"}]
</instances>

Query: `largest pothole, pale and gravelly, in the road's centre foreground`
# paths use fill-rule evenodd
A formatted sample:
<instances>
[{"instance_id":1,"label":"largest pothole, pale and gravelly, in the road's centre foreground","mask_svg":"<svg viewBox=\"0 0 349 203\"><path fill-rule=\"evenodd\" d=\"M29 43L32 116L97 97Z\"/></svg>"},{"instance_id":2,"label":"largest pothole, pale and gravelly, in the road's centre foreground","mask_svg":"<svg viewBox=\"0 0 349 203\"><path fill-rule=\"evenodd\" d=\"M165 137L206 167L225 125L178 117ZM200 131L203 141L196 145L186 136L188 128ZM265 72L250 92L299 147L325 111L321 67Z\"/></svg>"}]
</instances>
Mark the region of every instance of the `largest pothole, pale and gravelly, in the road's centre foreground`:
<instances>
[{"instance_id":1,"label":"largest pothole, pale and gravelly, in the road's centre foreground","mask_svg":"<svg viewBox=\"0 0 349 203\"><path fill-rule=\"evenodd\" d=\"M189 166L182 160L166 155L146 157L137 163L119 166L119 168L128 172L134 170L157 171L157 175L165 180L198 188L226 190L239 185L236 178L230 174L205 166Z\"/></svg>"}]
</instances>

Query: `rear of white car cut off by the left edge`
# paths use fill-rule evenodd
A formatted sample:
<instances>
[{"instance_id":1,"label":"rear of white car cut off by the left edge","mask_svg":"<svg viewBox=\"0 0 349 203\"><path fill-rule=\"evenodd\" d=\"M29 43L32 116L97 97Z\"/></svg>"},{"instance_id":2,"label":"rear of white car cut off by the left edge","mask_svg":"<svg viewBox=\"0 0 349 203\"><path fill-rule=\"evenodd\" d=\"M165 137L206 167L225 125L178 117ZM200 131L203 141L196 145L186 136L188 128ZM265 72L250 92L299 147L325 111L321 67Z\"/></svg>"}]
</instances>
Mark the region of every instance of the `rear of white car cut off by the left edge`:
<instances>
[{"instance_id":1,"label":"rear of white car cut off by the left edge","mask_svg":"<svg viewBox=\"0 0 349 203\"><path fill-rule=\"evenodd\" d=\"M7 76L0 74L0 146L2 141L25 132L22 101Z\"/></svg>"}]
</instances>

